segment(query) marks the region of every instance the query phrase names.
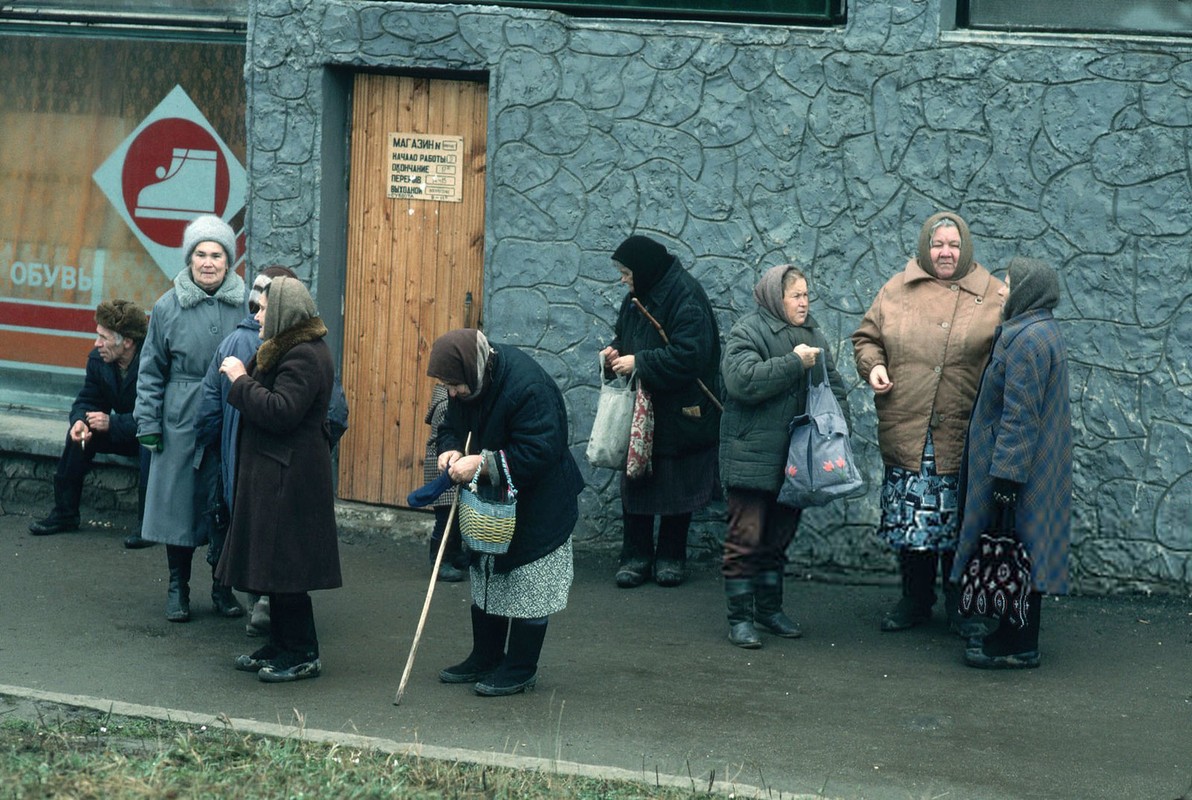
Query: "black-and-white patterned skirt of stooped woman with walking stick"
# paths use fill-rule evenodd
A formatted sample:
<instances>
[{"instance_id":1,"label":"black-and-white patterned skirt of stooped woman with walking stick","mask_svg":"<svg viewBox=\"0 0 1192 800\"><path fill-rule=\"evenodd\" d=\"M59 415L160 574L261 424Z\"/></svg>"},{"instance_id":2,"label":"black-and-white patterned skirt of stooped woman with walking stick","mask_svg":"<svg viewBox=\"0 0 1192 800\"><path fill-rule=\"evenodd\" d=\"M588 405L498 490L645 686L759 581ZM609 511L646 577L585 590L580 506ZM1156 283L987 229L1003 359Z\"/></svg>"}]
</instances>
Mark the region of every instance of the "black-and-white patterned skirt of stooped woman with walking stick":
<instances>
[{"instance_id":1,"label":"black-and-white patterned skirt of stooped woman with walking stick","mask_svg":"<svg viewBox=\"0 0 1192 800\"><path fill-rule=\"evenodd\" d=\"M499 616L534 619L567 607L575 562L571 537L553 551L508 572L492 571L492 556L472 560L472 602Z\"/></svg>"}]
</instances>

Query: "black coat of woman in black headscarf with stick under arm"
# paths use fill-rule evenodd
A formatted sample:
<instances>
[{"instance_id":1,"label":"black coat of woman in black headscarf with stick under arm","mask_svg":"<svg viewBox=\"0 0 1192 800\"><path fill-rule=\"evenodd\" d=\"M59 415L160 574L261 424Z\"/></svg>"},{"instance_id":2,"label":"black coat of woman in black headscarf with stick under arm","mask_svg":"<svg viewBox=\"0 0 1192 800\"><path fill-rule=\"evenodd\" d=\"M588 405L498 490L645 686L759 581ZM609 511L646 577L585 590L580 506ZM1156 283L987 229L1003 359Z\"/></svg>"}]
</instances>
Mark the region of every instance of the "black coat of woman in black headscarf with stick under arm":
<instances>
[{"instance_id":1,"label":"black coat of woman in black headscarf with stick under arm","mask_svg":"<svg viewBox=\"0 0 1192 800\"><path fill-rule=\"evenodd\" d=\"M633 355L641 385L654 404L654 454L687 455L716 444L720 411L696 379L718 391L720 329L703 287L678 259L644 297L638 297L666 331L670 343L633 304L621 303L613 348Z\"/></svg>"}]
</instances>

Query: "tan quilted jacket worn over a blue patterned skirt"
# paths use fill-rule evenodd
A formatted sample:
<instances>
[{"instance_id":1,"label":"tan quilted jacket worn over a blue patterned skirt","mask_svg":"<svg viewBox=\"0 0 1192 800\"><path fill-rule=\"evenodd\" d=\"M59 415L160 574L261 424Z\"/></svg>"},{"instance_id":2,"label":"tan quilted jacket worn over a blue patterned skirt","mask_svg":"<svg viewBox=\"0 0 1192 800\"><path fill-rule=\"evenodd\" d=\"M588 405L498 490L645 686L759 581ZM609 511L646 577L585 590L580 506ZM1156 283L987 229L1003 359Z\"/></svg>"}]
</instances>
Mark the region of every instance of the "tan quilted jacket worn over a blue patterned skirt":
<instances>
[{"instance_id":1,"label":"tan quilted jacket worn over a blue patterned skirt","mask_svg":"<svg viewBox=\"0 0 1192 800\"><path fill-rule=\"evenodd\" d=\"M874 396L887 466L918 471L930 421L936 470L960 472L969 413L1001 321L1001 286L979 263L960 280L938 280L911 259L877 292L852 348L862 380L883 364L894 383Z\"/></svg>"}]
</instances>

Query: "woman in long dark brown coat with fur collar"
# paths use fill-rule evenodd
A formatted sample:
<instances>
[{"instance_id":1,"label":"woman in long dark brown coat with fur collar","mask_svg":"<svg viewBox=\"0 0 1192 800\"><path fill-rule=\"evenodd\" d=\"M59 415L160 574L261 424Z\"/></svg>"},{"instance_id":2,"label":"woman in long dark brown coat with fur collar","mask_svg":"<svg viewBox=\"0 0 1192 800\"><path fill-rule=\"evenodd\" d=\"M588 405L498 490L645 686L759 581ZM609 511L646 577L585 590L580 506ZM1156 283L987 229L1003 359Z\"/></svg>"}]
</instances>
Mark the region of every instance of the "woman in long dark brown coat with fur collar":
<instances>
[{"instance_id":1,"label":"woman in long dark brown coat with fur collar","mask_svg":"<svg viewBox=\"0 0 1192 800\"><path fill-rule=\"evenodd\" d=\"M327 325L300 280L274 278L257 304L261 347L247 367L235 355L219 366L231 382L228 403L240 411L240 444L236 503L216 575L268 595L269 641L235 666L279 683L322 672L308 593L343 584L327 424L335 365Z\"/></svg>"}]
</instances>

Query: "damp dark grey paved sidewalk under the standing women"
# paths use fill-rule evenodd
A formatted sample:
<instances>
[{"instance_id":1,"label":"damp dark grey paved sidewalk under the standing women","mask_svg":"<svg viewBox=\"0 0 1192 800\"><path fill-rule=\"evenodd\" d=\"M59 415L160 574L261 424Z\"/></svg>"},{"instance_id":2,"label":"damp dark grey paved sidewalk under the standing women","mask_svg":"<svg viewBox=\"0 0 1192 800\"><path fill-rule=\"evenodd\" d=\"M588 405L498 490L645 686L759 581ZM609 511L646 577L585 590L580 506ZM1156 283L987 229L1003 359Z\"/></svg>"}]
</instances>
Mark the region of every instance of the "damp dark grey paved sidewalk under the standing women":
<instances>
[{"instance_id":1,"label":"damp dark grey paved sidewalk under the standing women","mask_svg":"<svg viewBox=\"0 0 1192 800\"><path fill-rule=\"evenodd\" d=\"M427 590L416 538L428 517L392 520L392 538L349 535L344 588L315 595L323 676L265 684L231 668L259 640L244 637L243 620L211 614L201 556L194 619L169 624L162 547L126 551L120 527L36 538L30 517L0 516L0 708L82 695L427 755L586 764L648 782L675 775L699 789L710 779L764 796L1173 800L1192 790L1186 600L1049 599L1043 666L982 672L962 664L939 620L879 633L893 588L791 579L788 610L805 638L765 637L745 651L726 639L713 566L678 589L620 590L611 558L581 547L534 692L488 699L439 683L437 670L470 647L467 585L440 583L395 706Z\"/></svg>"}]
</instances>

